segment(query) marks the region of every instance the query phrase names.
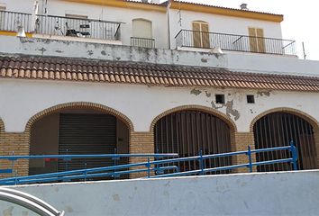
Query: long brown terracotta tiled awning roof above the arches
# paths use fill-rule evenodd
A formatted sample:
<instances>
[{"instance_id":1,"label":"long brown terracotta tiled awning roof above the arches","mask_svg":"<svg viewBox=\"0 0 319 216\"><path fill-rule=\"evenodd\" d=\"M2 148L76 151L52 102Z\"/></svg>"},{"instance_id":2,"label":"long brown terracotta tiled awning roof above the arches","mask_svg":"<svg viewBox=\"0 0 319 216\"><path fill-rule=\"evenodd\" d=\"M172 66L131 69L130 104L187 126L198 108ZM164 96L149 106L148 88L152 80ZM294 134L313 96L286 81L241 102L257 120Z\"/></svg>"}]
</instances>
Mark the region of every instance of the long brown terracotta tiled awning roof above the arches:
<instances>
[{"instance_id":1,"label":"long brown terracotta tiled awning roof above the arches","mask_svg":"<svg viewBox=\"0 0 319 216\"><path fill-rule=\"evenodd\" d=\"M137 85L319 91L319 77L79 58L0 57L0 77Z\"/></svg>"}]
</instances>

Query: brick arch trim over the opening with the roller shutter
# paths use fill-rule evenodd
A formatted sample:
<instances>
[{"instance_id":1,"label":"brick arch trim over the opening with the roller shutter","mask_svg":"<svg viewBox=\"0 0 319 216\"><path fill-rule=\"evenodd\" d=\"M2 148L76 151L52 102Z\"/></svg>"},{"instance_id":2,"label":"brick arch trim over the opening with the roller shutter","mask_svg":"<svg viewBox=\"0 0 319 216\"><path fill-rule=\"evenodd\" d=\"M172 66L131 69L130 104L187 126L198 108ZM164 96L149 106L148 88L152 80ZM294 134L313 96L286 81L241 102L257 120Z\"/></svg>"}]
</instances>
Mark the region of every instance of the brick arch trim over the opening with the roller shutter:
<instances>
[{"instance_id":1,"label":"brick arch trim over the opening with the roller shutter","mask_svg":"<svg viewBox=\"0 0 319 216\"><path fill-rule=\"evenodd\" d=\"M118 112L114 110L113 108L110 108L102 104L88 103L88 102L61 103L59 105L55 105L41 112L38 112L35 115L33 115L31 119L27 122L24 131L30 132L34 122L39 121L41 118L47 115L50 115L51 113L63 111L66 109L92 109L92 110L112 114L115 117L119 118L121 121L123 121L128 126L130 131L134 131L134 126L132 124L132 121L122 112Z\"/></svg>"}]
</instances>

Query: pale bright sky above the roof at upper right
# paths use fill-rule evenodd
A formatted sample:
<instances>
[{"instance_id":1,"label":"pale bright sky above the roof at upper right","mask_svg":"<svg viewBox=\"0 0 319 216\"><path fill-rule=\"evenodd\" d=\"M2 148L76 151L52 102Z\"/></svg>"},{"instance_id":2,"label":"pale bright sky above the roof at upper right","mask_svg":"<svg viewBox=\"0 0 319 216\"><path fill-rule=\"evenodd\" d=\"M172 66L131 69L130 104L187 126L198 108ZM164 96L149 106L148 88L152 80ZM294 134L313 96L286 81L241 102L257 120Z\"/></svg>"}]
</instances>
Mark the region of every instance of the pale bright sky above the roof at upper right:
<instances>
[{"instance_id":1,"label":"pale bright sky above the roof at upper right","mask_svg":"<svg viewBox=\"0 0 319 216\"><path fill-rule=\"evenodd\" d=\"M187 0L199 4L240 8L248 4L251 11L283 14L281 23L283 39L296 40L299 58L319 60L319 1L317 0Z\"/></svg>"}]
</instances>

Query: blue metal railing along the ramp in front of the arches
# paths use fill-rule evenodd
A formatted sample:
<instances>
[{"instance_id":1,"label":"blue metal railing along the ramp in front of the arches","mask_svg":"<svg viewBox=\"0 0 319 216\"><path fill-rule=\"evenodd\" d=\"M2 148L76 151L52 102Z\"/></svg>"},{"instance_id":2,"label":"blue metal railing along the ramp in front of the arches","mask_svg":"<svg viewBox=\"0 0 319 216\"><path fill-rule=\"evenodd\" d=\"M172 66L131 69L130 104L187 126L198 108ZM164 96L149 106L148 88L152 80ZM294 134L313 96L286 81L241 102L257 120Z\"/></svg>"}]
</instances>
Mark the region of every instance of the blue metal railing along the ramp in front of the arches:
<instances>
[{"instance_id":1,"label":"blue metal railing along the ramp in front of the arches","mask_svg":"<svg viewBox=\"0 0 319 216\"><path fill-rule=\"evenodd\" d=\"M278 151L278 150L289 150L291 152L291 157L281 158L276 160L253 162L252 154L260 152ZM248 157L248 163L232 165L232 166L218 166L218 167L206 167L205 159L217 158L217 157L232 157L245 155ZM0 159L6 159L10 161L16 161L18 159L31 159L31 158L62 158L70 160L72 158L79 157L112 157L113 159L119 159L120 157L147 157L146 162L127 164L127 165L117 165L117 166L105 166L96 168L86 168L71 171L64 171L59 173L49 173L41 175L29 175L29 176L13 176L10 178L0 179L0 185L8 184L32 184L32 183L45 183L45 182L57 182L57 181L70 181L70 180L84 180L87 178L94 177L105 177L105 176L120 176L133 173L146 173L148 178L158 178L158 177L171 177L171 176L183 176L183 175L205 175L207 173L221 171L221 170L232 170L237 168L248 168L250 172L253 171L253 166L263 166L269 164L278 163L291 163L293 170L297 170L296 160L297 152L293 141L290 142L289 146L277 147L277 148L262 148L262 149L252 149L248 146L246 151L236 151L222 154L214 155L203 155L202 152L199 156L195 157L178 157L163 159L164 157L177 157L178 154L111 154L111 155L50 155L50 156L2 156ZM150 160L154 158L155 160ZM179 167L176 166L178 162L186 161L198 161L199 169L189 170L185 172L180 172ZM128 169L128 170L123 170ZM4 169L3 173L13 173L13 170ZM165 171L170 171L172 173L165 173ZM152 173L157 175L152 175Z\"/></svg>"}]
</instances>

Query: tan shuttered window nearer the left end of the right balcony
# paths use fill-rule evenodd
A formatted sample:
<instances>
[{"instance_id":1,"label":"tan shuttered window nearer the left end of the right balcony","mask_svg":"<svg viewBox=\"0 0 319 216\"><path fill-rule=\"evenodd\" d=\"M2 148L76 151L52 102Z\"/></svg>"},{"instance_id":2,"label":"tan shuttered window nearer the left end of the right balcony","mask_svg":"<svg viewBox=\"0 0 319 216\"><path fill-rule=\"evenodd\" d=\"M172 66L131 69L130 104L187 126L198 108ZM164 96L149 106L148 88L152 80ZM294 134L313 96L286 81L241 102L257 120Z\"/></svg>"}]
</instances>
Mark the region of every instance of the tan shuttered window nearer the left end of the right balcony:
<instances>
[{"instance_id":1,"label":"tan shuttered window nearer the left end of the right balcony","mask_svg":"<svg viewBox=\"0 0 319 216\"><path fill-rule=\"evenodd\" d=\"M203 21L194 21L193 42L196 48L210 48L208 23Z\"/></svg>"}]
</instances>

